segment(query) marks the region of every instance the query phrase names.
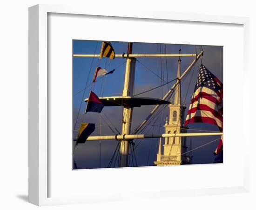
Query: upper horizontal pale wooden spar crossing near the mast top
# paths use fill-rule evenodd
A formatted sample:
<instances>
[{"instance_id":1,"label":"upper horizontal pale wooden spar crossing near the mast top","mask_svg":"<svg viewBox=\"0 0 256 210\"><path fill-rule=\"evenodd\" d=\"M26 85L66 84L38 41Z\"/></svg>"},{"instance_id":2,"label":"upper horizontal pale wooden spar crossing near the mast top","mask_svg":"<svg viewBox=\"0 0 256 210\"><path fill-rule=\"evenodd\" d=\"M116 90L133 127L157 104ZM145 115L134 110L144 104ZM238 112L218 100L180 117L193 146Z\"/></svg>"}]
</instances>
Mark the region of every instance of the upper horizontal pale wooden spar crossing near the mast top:
<instances>
[{"instance_id":1,"label":"upper horizontal pale wooden spar crossing near the mast top","mask_svg":"<svg viewBox=\"0 0 256 210\"><path fill-rule=\"evenodd\" d=\"M139 58L139 57L188 57L196 56L197 54L116 54L116 58ZM73 54L73 57L100 57L100 54Z\"/></svg>"}]
</instances>

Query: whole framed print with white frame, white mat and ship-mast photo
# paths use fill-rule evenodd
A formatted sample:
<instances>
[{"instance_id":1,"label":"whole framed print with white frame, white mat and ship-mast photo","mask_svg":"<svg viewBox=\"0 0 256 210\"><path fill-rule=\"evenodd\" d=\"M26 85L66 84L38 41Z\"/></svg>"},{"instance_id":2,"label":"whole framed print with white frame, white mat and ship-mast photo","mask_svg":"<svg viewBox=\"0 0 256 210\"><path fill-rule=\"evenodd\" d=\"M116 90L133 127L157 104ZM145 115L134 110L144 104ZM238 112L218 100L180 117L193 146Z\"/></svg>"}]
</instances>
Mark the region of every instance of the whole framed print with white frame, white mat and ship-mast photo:
<instances>
[{"instance_id":1,"label":"whole framed print with white frame, white mat and ship-mast photo","mask_svg":"<svg viewBox=\"0 0 256 210\"><path fill-rule=\"evenodd\" d=\"M246 18L30 7L29 202L246 192L247 36Z\"/></svg>"}]
</instances>

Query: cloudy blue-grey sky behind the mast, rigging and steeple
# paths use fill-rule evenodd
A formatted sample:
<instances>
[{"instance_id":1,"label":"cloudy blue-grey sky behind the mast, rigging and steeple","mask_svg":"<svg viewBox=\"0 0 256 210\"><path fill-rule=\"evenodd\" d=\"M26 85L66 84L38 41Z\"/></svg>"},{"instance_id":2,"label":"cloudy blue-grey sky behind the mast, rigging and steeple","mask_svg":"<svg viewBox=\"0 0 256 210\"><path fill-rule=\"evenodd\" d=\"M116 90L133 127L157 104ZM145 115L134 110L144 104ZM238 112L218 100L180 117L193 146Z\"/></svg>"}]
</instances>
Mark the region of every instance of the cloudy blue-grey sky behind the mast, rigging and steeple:
<instances>
[{"instance_id":1,"label":"cloudy blue-grey sky behind the mast, rigging and steeple","mask_svg":"<svg viewBox=\"0 0 256 210\"><path fill-rule=\"evenodd\" d=\"M116 54L127 53L127 42L111 41ZM134 43L133 53L179 53L180 45L172 44L151 44L151 43ZM202 46L204 55L202 64L206 66L217 78L222 81L222 46ZM201 46L195 45L181 45L183 54L199 53ZM101 50L101 41L87 41L74 40L73 53L74 54L99 54ZM135 88L134 94L147 91L162 84L162 79L170 81L176 78L177 57L174 58L138 58L135 67ZM181 72L189 66L194 59L193 57L182 57ZM90 90L93 90L99 97L101 96L121 96L123 89L123 81L125 74L126 59L115 58L73 58L73 123L76 121L78 110L81 105L81 112L78 117L78 122L75 130L79 129L81 123L82 113L85 110L86 103L82 100L88 98ZM95 85L92 84L93 74L96 66L101 66L107 71L115 69L113 74L97 79ZM195 82L201 59L197 61L196 65L191 69L188 76L182 80L182 102L185 102L186 107L189 107L192 93L195 88ZM154 72L154 73L153 73ZM156 76L158 75L158 77ZM161 76L162 75L162 76ZM87 84L88 88L85 91L83 98L83 89ZM141 97L162 98L173 83L164 85L154 91L141 94ZM92 89L93 88L93 89ZM82 103L81 103L82 101ZM134 109L133 126L139 125L141 121L147 117L148 113L154 106L141 106ZM187 114L187 109L185 115ZM104 107L100 115L94 112L88 112L84 116L84 122L95 123L96 129L92 135L113 135L113 132L108 128L106 122L110 119L112 127L121 131L121 107ZM164 133L164 125L166 117L168 117L168 107L159 114L159 118L154 122L156 126L148 126L145 133ZM152 122L153 123L153 122ZM101 124L101 126L99 126ZM217 127L209 124L190 124L190 129L218 131ZM75 131L75 136L77 132ZM205 144L216 137L194 137L192 139L192 148ZM188 138L190 140L190 138ZM188 141L189 142L189 141ZM158 149L158 139L136 140L135 155L138 166L153 165L155 161L156 152ZM214 160L213 151L216 149L218 141L204 146L198 150L193 151L193 164L212 163ZM115 151L117 142L114 141L87 141L85 144L79 144L75 150L74 158L80 169L107 167L110 158ZM189 145L188 145L189 146ZM101 153L101 155L100 155ZM101 157L101 158L100 158Z\"/></svg>"}]
</instances>

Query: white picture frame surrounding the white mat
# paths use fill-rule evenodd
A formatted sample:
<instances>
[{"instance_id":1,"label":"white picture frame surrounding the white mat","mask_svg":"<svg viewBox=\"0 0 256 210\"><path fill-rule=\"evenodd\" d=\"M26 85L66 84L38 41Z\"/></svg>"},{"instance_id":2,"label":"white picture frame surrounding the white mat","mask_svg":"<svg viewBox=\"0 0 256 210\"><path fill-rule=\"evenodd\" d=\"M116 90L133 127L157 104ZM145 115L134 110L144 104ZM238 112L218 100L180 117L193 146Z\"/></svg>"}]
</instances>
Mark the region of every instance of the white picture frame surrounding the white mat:
<instances>
[{"instance_id":1,"label":"white picture frame surrounding the white mat","mask_svg":"<svg viewBox=\"0 0 256 210\"><path fill-rule=\"evenodd\" d=\"M29 202L36 205L54 205L54 204L72 204L72 203L91 203L99 201L120 201L126 199L138 199L154 197L157 198L159 195L159 189L152 189L145 191L132 191L133 194L128 197L124 195L112 194L106 195L92 195L92 196L49 196L51 193L52 179L49 177L49 166L51 165L51 158L49 158L49 145L48 139L48 95L50 94L48 88L48 15L51 13L59 14L76 14L76 15L89 15L93 17L111 17L112 19L119 20L141 20L147 19L149 22L157 20L159 22L166 23L168 20L182 21L186 24L192 24L195 22L204 23L205 25L223 24L227 25L239 25L243 28L243 76L248 74L248 55L249 55L249 19L242 17L228 17L228 16L217 16L217 15L200 15L200 14L183 14L183 13L161 13L161 12L123 12L123 11L92 11L86 8L79 7L65 7L55 5L36 5L29 8ZM127 41L127 40L126 40ZM194 43L189 43L194 44ZM224 59L225 62L225 59ZM243 90L246 90L246 84L243 84ZM70 87L72 88L72 87ZM225 91L225 90L224 90ZM246 93L244 92L244 97ZM248 97L249 98L249 97ZM249 121L249 110L243 110L243 120ZM225 133L225 130L224 130ZM224 141L224 145L225 145ZM244 146L249 144L249 134L244 135ZM241 151L243 158L246 157L245 151ZM225 158L225 157L224 157ZM224 165L224 164L223 164ZM226 167L221 166L222 168ZM243 193L249 192L249 163L243 162L243 183L234 186L219 186L217 188L208 189L181 189L165 191L165 196L176 197L176 196L191 196L196 195L212 195L212 194L225 194L225 193ZM151 168L143 169L129 169L129 170L151 170ZM160 167L159 170L165 171L167 168ZM121 169L128 170L128 169ZM119 173L121 170L116 171ZM155 169L154 169L155 170ZM158 171L159 171L158 170ZM221 170L221 169L220 169ZM98 170L94 173L103 173L106 170ZM121 173L121 172L120 172ZM67 180L69 182L71 180Z\"/></svg>"}]
</instances>

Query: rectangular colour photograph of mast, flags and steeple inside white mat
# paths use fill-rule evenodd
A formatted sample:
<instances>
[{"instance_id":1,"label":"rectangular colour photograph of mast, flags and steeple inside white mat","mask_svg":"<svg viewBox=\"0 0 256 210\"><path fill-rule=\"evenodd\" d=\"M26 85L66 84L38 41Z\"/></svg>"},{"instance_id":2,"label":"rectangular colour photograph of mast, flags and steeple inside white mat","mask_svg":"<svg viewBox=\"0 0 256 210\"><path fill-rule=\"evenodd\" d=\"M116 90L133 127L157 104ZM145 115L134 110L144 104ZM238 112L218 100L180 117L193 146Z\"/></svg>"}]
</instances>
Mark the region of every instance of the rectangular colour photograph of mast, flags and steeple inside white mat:
<instances>
[{"instance_id":1,"label":"rectangular colour photograph of mast, flags and steeple inside white mat","mask_svg":"<svg viewBox=\"0 0 256 210\"><path fill-rule=\"evenodd\" d=\"M223 46L73 39L73 170L223 163Z\"/></svg>"}]
</instances>

